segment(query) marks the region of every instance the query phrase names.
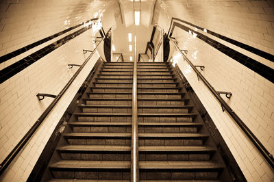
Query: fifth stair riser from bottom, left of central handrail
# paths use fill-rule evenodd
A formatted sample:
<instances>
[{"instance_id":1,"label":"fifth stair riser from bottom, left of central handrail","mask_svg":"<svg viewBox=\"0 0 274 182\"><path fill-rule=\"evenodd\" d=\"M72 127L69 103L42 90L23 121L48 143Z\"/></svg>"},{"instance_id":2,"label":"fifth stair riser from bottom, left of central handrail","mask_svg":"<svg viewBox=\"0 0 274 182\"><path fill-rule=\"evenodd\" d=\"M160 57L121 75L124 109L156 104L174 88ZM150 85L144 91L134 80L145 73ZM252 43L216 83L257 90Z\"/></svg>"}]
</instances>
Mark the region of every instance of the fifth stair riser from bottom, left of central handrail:
<instances>
[{"instance_id":1,"label":"fifth stair riser from bottom, left of central handrail","mask_svg":"<svg viewBox=\"0 0 274 182\"><path fill-rule=\"evenodd\" d=\"M78 121L84 122L132 122L132 116L78 116Z\"/></svg>"}]
</instances>

